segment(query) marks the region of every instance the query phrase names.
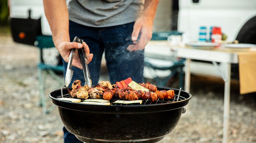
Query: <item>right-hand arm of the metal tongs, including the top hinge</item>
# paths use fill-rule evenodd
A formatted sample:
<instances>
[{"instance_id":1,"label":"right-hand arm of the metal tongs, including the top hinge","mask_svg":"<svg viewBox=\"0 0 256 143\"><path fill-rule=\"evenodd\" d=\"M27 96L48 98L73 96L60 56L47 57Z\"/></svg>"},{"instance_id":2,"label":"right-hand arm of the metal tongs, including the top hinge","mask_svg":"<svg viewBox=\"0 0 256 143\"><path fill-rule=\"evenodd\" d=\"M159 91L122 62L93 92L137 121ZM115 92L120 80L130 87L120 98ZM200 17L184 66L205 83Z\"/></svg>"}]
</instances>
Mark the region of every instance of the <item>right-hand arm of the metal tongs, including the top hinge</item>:
<instances>
[{"instance_id":1,"label":"right-hand arm of the metal tongs, including the top hinge","mask_svg":"<svg viewBox=\"0 0 256 143\"><path fill-rule=\"evenodd\" d=\"M83 40L78 37L75 37L74 40L76 40L74 42L78 42L81 44L83 43ZM90 78L89 68L87 65L87 57L84 52L84 48L78 49L78 53L79 53L79 57L80 57L80 60L81 60L82 66L83 66L83 74L84 74L84 80L85 80L84 85L88 85L89 87L92 87L92 80Z\"/></svg>"}]
</instances>

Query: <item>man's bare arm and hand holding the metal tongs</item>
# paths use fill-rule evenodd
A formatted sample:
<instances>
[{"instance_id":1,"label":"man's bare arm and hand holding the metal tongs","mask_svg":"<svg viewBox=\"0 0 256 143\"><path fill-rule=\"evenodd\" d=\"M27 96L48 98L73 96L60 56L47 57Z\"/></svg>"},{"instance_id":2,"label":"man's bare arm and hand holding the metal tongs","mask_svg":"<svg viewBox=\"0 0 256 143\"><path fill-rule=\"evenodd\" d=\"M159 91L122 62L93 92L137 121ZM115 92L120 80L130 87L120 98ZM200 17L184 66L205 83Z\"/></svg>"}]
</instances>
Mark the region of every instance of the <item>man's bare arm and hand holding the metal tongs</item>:
<instances>
[{"instance_id":1,"label":"man's bare arm and hand holding the metal tongs","mask_svg":"<svg viewBox=\"0 0 256 143\"><path fill-rule=\"evenodd\" d=\"M69 53L72 48L84 47L88 63L92 60L93 55L89 54L88 45L70 42L69 38L69 18L66 0L43 0L44 11L49 22L55 47L58 49L62 58L68 62ZM82 69L79 55L75 54L72 65Z\"/></svg>"}]
</instances>

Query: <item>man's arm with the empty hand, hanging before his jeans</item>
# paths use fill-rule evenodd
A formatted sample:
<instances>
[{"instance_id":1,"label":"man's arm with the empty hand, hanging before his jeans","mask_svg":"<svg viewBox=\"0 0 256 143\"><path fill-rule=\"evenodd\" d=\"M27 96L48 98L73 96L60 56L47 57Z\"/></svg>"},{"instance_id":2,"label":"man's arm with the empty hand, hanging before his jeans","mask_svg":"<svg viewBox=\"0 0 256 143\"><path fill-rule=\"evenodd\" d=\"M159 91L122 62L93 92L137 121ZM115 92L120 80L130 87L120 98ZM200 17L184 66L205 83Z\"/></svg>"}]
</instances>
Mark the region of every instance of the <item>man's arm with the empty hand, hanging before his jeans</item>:
<instances>
[{"instance_id":1,"label":"man's arm with the empty hand, hanging before his jeans","mask_svg":"<svg viewBox=\"0 0 256 143\"><path fill-rule=\"evenodd\" d=\"M159 0L145 0L143 12L135 21L131 34L131 40L134 41L134 45L129 45L127 50L137 51L144 49L149 40L152 38L153 22L158 3ZM141 33L140 40L139 42L136 42L139 33Z\"/></svg>"}]
</instances>

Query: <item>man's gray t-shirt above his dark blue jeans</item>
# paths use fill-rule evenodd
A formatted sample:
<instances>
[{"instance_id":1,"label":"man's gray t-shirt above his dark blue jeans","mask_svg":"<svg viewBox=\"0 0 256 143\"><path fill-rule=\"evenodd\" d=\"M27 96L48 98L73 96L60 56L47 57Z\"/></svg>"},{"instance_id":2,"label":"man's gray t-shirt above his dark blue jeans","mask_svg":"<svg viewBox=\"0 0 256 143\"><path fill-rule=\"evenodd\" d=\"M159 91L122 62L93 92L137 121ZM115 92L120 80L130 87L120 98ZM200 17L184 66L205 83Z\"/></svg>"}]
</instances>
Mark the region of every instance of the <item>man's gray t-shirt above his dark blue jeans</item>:
<instances>
[{"instance_id":1,"label":"man's gray t-shirt above his dark blue jeans","mask_svg":"<svg viewBox=\"0 0 256 143\"><path fill-rule=\"evenodd\" d=\"M91 27L134 22L143 4L144 0L67 0L69 20Z\"/></svg>"}]
</instances>

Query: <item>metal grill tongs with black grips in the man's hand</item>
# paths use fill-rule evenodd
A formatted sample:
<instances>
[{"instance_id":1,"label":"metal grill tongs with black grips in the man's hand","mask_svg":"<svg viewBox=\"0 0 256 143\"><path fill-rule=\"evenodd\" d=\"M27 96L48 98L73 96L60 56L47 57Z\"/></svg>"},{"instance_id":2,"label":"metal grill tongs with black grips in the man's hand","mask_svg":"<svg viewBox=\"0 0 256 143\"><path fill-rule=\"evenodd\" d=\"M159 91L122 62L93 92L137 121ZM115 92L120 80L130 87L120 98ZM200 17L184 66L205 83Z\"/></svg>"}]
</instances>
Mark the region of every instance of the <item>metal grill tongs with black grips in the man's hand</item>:
<instances>
[{"instance_id":1,"label":"metal grill tongs with black grips in the man's hand","mask_svg":"<svg viewBox=\"0 0 256 143\"><path fill-rule=\"evenodd\" d=\"M78 42L78 43L82 44L83 40L78 37L75 37L73 42ZM61 87L61 96L62 97L63 97L63 92L62 92L63 87L66 87L68 89L68 86L72 80L74 71L71 69L71 67L72 67L72 61L73 61L74 54L75 54L75 49L71 49L70 54L69 54L68 66L67 66L67 70L66 70L65 85L62 85L62 87ZM84 52L84 48L78 49L78 54L79 54L80 61L82 63L82 67L83 67L83 74L84 74L84 80L85 80L84 85L88 85L91 88L92 80L90 77L89 68L88 68L88 64L87 64L87 57ZM68 89L68 91L69 91L69 89Z\"/></svg>"}]
</instances>

